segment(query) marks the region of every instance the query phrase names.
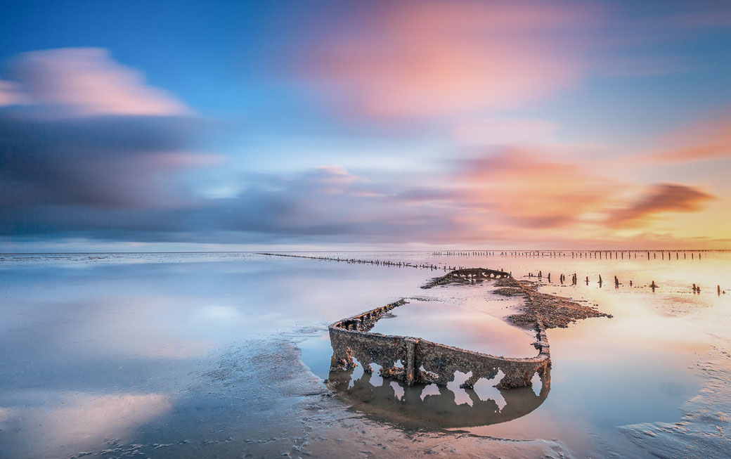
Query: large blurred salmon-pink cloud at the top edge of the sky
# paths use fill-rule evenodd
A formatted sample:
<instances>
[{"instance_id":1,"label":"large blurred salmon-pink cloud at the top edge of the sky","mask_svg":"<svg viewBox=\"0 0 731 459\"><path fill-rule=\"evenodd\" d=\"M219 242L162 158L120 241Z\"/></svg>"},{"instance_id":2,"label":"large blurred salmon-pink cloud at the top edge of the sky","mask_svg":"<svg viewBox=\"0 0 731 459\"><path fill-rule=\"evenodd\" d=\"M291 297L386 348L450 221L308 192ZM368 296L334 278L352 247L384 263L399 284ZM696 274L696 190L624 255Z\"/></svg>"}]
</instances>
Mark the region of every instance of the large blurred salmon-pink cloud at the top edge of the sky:
<instances>
[{"instance_id":1,"label":"large blurred salmon-pink cloud at the top edge of the sky","mask_svg":"<svg viewBox=\"0 0 731 459\"><path fill-rule=\"evenodd\" d=\"M514 108L580 77L581 40L567 31L592 20L575 5L398 2L323 40L308 72L356 115Z\"/></svg>"}]
</instances>

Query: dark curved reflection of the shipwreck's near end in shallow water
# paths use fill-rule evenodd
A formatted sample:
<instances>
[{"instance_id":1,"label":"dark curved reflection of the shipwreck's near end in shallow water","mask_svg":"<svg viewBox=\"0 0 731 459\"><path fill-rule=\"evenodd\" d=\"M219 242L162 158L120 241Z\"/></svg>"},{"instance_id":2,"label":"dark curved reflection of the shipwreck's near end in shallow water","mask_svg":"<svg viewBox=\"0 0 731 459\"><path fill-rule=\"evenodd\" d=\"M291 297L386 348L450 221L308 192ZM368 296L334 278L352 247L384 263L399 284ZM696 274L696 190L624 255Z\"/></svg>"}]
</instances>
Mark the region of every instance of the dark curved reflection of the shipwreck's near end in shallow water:
<instances>
[{"instance_id":1,"label":"dark curved reflection of the shipwreck's near end in shallow water","mask_svg":"<svg viewBox=\"0 0 731 459\"><path fill-rule=\"evenodd\" d=\"M540 378L538 394L531 387L499 390L505 401L500 408L493 399L482 401L477 392L465 389L470 406L469 403L457 404L455 392L446 386L436 386L438 393L424 395L429 387L425 384L409 387L400 381L382 379L381 385L374 385L372 379L381 378L364 372L360 378L352 379L353 371L355 369L330 371L327 386L366 417L413 429L465 428L515 420L537 409L550 391L548 368Z\"/></svg>"}]
</instances>

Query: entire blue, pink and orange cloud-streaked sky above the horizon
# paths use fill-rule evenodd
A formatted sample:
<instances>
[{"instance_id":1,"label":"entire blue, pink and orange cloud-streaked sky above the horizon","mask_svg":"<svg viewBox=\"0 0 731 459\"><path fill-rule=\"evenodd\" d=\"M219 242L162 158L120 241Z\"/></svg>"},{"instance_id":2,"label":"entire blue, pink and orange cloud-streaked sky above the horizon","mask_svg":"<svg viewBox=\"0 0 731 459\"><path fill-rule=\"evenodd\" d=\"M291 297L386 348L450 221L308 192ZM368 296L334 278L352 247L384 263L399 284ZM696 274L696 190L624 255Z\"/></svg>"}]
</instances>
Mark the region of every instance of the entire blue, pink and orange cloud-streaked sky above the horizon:
<instances>
[{"instance_id":1,"label":"entire blue, pink and orange cloud-streaked sky above the horizon","mask_svg":"<svg viewBox=\"0 0 731 459\"><path fill-rule=\"evenodd\" d=\"M731 249L731 3L3 1L0 252Z\"/></svg>"}]
</instances>

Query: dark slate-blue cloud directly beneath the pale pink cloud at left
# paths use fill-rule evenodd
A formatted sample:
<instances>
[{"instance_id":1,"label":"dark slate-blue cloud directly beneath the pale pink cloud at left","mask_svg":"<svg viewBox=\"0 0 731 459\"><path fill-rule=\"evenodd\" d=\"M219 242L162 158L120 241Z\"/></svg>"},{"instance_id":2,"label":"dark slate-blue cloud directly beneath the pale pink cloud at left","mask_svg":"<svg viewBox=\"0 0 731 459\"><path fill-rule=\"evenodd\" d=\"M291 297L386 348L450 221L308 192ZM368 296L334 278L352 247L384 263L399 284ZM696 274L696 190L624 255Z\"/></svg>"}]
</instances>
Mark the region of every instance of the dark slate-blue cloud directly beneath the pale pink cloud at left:
<instances>
[{"instance_id":1,"label":"dark slate-blue cloud directly beneath the pale pink cloud at left","mask_svg":"<svg viewBox=\"0 0 731 459\"><path fill-rule=\"evenodd\" d=\"M189 118L47 119L0 111L0 207L157 206L164 175L186 165Z\"/></svg>"}]
</instances>

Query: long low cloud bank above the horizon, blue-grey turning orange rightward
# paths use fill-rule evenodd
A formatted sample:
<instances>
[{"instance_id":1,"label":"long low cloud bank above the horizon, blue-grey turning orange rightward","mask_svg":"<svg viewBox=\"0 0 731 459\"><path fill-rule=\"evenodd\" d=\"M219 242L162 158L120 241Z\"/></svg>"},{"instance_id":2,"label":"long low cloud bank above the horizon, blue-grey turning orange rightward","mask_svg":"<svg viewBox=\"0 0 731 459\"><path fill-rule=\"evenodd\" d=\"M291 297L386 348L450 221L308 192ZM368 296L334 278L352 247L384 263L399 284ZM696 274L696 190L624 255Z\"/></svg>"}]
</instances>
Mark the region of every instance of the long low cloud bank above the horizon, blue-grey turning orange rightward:
<instances>
[{"instance_id":1,"label":"long low cloud bank above the horizon, blue-grey turning orange rightward","mask_svg":"<svg viewBox=\"0 0 731 459\"><path fill-rule=\"evenodd\" d=\"M11 209L0 234L152 243L616 243L616 229L652 230L651 216L700 210L711 199L690 186L662 185L622 206L637 186L526 148L494 148L435 175L366 178L331 165L249 175L245 183L235 197L169 208Z\"/></svg>"}]
</instances>

